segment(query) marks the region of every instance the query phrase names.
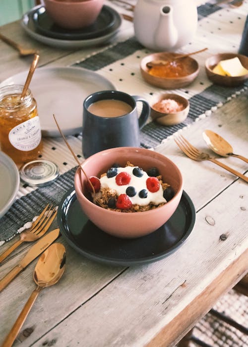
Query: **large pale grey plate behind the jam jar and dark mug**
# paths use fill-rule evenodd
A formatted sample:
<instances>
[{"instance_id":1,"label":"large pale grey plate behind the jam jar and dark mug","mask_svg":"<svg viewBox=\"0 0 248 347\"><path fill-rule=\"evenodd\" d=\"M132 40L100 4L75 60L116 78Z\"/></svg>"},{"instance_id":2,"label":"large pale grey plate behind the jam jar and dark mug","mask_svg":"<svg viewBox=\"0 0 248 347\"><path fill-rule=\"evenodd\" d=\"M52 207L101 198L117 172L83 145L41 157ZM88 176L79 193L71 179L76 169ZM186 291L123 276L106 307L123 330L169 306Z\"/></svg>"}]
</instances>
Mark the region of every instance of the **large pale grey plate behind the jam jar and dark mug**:
<instances>
[{"instance_id":1,"label":"large pale grey plate behind the jam jar and dark mug","mask_svg":"<svg viewBox=\"0 0 248 347\"><path fill-rule=\"evenodd\" d=\"M28 71L13 75L0 87L24 84ZM115 90L100 74L81 67L41 67L36 69L30 90L37 101L43 136L60 136L53 114L64 135L82 131L83 101L91 93Z\"/></svg>"}]
</instances>

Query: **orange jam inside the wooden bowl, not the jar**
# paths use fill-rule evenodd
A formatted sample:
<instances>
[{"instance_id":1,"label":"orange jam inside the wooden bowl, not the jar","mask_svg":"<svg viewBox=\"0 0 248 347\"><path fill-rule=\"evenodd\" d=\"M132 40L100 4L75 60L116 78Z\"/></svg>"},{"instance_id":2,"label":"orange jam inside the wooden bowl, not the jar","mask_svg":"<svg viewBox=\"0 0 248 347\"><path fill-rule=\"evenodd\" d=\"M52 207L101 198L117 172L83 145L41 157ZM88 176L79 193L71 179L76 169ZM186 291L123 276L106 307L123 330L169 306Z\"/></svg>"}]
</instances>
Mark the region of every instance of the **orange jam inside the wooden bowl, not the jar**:
<instances>
[{"instance_id":1,"label":"orange jam inside the wooden bowl, not the jar","mask_svg":"<svg viewBox=\"0 0 248 347\"><path fill-rule=\"evenodd\" d=\"M148 73L156 77L175 78L187 75L184 64L178 61L167 61L163 65L154 65L149 68Z\"/></svg>"}]
</instances>

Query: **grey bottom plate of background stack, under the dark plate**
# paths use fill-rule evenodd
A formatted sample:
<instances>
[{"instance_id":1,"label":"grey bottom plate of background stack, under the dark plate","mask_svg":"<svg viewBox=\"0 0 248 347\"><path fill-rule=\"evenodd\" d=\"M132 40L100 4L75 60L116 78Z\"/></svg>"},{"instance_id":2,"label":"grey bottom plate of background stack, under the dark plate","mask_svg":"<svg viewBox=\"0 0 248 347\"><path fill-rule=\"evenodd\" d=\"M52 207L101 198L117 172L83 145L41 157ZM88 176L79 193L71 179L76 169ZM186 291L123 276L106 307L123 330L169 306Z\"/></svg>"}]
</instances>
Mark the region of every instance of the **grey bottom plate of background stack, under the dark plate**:
<instances>
[{"instance_id":1,"label":"grey bottom plate of background stack, under the dark plate","mask_svg":"<svg viewBox=\"0 0 248 347\"><path fill-rule=\"evenodd\" d=\"M58 48L79 48L79 47L89 47L98 45L101 43L105 43L110 41L119 31L120 26L122 24L122 18L120 15L116 18L116 25L110 33L103 35L101 37L93 38L93 39L86 39L86 40L61 40L61 39L55 39L52 37L48 37L45 35L41 35L36 31L35 24L32 18L32 13L35 9L37 9L39 6L34 7L31 11L25 13L21 20L21 26L26 31L26 33L31 36L33 39L40 41L46 45L52 46L52 47L58 47Z\"/></svg>"}]
</instances>

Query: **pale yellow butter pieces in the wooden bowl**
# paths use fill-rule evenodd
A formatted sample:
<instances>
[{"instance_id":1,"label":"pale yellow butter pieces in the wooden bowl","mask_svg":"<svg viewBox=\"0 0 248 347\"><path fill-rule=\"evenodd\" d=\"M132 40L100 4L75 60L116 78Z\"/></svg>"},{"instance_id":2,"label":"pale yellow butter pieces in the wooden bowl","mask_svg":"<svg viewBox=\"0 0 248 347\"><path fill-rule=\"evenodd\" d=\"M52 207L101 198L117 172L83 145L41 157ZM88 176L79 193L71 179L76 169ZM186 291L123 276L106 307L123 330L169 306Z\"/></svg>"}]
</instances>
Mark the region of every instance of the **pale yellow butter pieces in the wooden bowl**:
<instances>
[{"instance_id":1,"label":"pale yellow butter pieces in the wooden bowl","mask_svg":"<svg viewBox=\"0 0 248 347\"><path fill-rule=\"evenodd\" d=\"M232 59L221 60L214 67L213 72L223 76L243 76L248 73L248 70L241 64L238 57Z\"/></svg>"}]
</instances>

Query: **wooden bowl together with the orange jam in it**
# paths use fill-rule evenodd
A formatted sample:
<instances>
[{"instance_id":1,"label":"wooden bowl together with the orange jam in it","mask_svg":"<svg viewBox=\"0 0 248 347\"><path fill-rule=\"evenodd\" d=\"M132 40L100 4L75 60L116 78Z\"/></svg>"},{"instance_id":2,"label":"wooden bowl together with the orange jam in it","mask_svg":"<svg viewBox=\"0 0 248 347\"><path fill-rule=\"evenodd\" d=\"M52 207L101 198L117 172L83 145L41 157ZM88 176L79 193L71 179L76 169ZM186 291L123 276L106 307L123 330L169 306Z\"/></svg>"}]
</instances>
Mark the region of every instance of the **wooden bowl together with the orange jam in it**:
<instances>
[{"instance_id":1,"label":"wooden bowl together with the orange jam in it","mask_svg":"<svg viewBox=\"0 0 248 347\"><path fill-rule=\"evenodd\" d=\"M153 53L141 60L140 71L144 80L163 89L182 88L190 84L199 73L198 62L182 54Z\"/></svg>"}]
</instances>

